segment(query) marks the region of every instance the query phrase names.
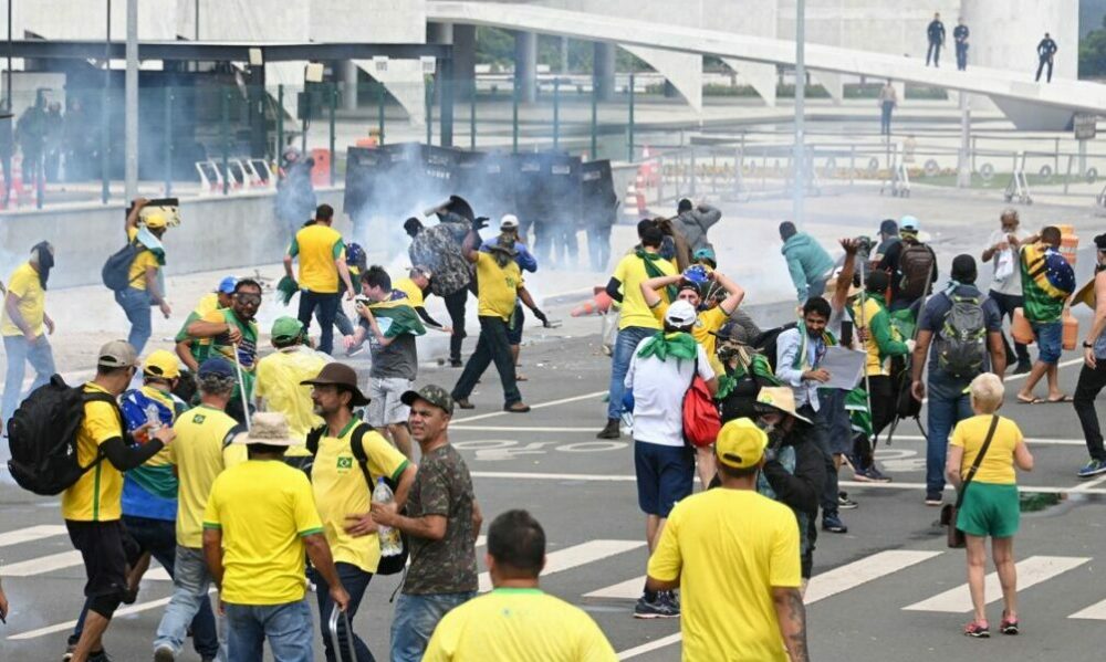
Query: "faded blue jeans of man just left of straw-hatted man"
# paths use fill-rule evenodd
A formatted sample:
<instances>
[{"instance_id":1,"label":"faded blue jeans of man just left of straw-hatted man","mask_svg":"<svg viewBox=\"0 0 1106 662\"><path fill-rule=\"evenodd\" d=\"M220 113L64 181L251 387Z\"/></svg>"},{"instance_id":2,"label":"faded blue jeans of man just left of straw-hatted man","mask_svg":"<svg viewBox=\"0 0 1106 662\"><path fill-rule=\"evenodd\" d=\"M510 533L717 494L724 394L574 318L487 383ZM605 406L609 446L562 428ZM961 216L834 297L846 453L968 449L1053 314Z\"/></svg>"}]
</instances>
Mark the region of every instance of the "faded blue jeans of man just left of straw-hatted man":
<instances>
[{"instance_id":1,"label":"faded blue jeans of man just left of straw-hatted man","mask_svg":"<svg viewBox=\"0 0 1106 662\"><path fill-rule=\"evenodd\" d=\"M211 612L211 601L208 599L210 587L211 574L204 560L204 550L178 545L175 550L173 568L173 597L169 598L169 605L165 608L161 622L157 626L154 650L167 647L173 650L174 655L179 655L185 647L188 624L191 623L197 652L208 658L216 656L210 648L206 652L199 650L200 638L198 633L201 632L199 624L207 620L204 618L204 612ZM218 640L215 643L218 644ZM226 643L219 647L218 652L217 659L227 659Z\"/></svg>"}]
</instances>

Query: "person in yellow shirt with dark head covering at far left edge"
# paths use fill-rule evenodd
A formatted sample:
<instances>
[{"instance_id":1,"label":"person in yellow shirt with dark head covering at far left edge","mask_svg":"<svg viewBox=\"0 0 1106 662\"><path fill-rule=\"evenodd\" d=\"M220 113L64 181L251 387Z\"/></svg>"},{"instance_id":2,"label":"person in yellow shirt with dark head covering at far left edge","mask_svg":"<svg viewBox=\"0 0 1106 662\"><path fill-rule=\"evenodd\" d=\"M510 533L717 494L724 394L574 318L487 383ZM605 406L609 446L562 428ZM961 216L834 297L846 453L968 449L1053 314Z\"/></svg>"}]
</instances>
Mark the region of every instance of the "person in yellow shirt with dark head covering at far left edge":
<instances>
[{"instance_id":1,"label":"person in yellow shirt with dark head covering at far left edge","mask_svg":"<svg viewBox=\"0 0 1106 662\"><path fill-rule=\"evenodd\" d=\"M0 334L8 360L4 374L3 400L0 401L0 431L3 421L15 413L23 395L25 364L34 368L31 390L50 381L56 372L54 353L48 335L54 333L54 321L46 314L46 281L54 266L54 246L42 241L31 248L31 256L17 266L8 279L0 311ZM0 293L3 287L0 287Z\"/></svg>"}]
</instances>

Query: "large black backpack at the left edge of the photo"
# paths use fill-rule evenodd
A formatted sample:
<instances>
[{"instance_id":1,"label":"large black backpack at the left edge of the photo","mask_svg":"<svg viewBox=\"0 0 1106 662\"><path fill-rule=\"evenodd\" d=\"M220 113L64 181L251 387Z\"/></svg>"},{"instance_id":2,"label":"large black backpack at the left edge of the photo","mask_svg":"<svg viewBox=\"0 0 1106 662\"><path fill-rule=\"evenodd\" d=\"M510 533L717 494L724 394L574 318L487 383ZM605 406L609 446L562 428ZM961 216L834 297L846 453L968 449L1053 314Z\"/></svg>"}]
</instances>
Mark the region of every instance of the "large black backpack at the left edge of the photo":
<instances>
[{"instance_id":1,"label":"large black backpack at the left edge of the photo","mask_svg":"<svg viewBox=\"0 0 1106 662\"><path fill-rule=\"evenodd\" d=\"M77 462L76 437L87 402L111 403L119 414L122 430L123 412L115 398L72 388L61 375L54 375L50 383L34 389L19 406L8 421L11 450L8 471L20 487L53 496L103 461L104 455L100 453L87 466Z\"/></svg>"}]
</instances>

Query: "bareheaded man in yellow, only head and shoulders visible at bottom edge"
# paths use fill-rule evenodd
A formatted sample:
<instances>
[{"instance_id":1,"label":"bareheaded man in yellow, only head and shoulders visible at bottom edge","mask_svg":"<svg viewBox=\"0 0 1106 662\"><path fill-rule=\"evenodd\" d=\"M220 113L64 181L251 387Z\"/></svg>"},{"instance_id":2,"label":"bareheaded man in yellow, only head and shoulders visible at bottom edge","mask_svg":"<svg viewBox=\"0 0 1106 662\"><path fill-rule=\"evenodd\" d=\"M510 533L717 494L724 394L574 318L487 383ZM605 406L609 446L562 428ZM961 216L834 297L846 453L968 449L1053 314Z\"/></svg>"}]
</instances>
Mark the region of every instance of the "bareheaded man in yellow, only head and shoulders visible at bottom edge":
<instances>
[{"instance_id":1,"label":"bareheaded man in yellow, only head and shoulders visible at bottom edge","mask_svg":"<svg viewBox=\"0 0 1106 662\"><path fill-rule=\"evenodd\" d=\"M545 532L526 511L508 511L488 528L494 589L442 617L424 662L614 662L611 642L583 609L546 595Z\"/></svg>"}]
</instances>

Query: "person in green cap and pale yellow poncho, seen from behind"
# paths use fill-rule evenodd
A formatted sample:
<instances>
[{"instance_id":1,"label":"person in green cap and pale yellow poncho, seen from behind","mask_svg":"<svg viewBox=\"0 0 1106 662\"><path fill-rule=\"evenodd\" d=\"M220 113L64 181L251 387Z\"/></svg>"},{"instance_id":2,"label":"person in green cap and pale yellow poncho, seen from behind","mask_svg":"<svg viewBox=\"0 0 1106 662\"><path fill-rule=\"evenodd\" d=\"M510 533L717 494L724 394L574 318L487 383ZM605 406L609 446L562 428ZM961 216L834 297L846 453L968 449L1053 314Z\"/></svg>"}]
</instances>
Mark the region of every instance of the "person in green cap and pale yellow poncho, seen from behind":
<instances>
[{"instance_id":1,"label":"person in green cap and pale yellow poncho, seen from behind","mask_svg":"<svg viewBox=\"0 0 1106 662\"><path fill-rule=\"evenodd\" d=\"M284 459L303 467L311 459L303 445L307 432L322 425L323 419L315 413L311 389L300 382L319 375L334 359L307 346L307 329L295 317L278 317L269 337L276 351L258 361L253 397L258 411L279 411L288 419L289 431L300 443L290 446Z\"/></svg>"}]
</instances>

